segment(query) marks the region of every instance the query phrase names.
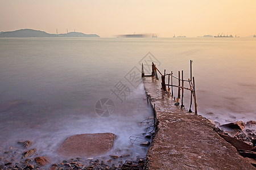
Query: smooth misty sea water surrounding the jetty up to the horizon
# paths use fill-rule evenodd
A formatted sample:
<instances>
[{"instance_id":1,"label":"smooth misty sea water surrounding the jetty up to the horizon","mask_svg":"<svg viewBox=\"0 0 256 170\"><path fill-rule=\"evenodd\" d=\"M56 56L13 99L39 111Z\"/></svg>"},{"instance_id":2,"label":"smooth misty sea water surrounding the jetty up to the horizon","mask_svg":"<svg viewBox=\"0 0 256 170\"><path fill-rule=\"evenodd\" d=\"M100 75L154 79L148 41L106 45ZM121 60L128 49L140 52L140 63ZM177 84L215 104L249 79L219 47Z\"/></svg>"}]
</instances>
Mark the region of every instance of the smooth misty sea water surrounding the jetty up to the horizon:
<instances>
[{"instance_id":1,"label":"smooth misty sea water surrounding the jetty up to the horizon","mask_svg":"<svg viewBox=\"0 0 256 170\"><path fill-rule=\"evenodd\" d=\"M115 149L146 155L129 137L144 132L138 122L152 111L143 84L126 78L148 52L160 71L184 70L185 79L193 60L199 114L220 124L256 120L256 39L0 39L0 147L29 139L54 157L71 135L112 132ZM130 89L122 103L111 91L120 84ZM109 117L95 110L103 97L115 105Z\"/></svg>"}]
</instances>

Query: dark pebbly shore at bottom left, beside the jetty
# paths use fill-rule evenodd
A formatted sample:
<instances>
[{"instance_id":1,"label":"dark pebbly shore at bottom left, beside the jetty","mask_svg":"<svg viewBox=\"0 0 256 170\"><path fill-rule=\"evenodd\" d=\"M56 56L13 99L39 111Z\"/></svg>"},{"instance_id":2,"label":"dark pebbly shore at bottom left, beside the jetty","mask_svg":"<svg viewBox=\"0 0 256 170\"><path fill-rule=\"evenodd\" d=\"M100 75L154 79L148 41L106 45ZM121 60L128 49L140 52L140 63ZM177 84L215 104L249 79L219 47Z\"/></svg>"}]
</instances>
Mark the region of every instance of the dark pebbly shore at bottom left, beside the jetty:
<instances>
[{"instance_id":1,"label":"dark pebbly shore at bottom left, beside the jetty","mask_svg":"<svg viewBox=\"0 0 256 170\"><path fill-rule=\"evenodd\" d=\"M115 138L115 135L111 133L106 133L104 135L94 134L94 137L98 137L99 135L101 137L105 136L108 141L112 141ZM88 137L88 135L83 136ZM102 142L104 141L106 142L106 140L102 139ZM33 143L31 141L19 141L18 144L19 148L10 147L9 150L5 151L1 148L1 151L3 151L1 154L4 156L0 157L0 169L143 169L144 167L143 158L134 158L130 161L129 159L131 158L129 154L108 155L105 157L96 156L94 158L75 157L54 163L48 156L38 155L36 153L36 148L33 148ZM113 143L108 143L104 147L108 148L109 145L112 144ZM97 145L97 142L95 145ZM90 148L95 147L95 145L90 146ZM84 147L87 146L85 145ZM18 152L20 148L25 150L22 154ZM61 150L64 149L63 146L60 148Z\"/></svg>"}]
</instances>

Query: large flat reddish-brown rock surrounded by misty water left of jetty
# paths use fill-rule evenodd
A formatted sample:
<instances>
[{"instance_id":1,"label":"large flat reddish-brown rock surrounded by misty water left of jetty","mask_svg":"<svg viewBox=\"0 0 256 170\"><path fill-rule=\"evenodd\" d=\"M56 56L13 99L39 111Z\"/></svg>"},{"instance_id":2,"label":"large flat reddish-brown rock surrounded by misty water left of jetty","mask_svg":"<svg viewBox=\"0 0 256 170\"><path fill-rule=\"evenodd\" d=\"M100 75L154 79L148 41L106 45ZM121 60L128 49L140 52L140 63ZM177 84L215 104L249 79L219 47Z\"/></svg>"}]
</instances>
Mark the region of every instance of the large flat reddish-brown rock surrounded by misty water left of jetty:
<instances>
[{"instance_id":1,"label":"large flat reddish-brown rock surrounded by misty water left of jetty","mask_svg":"<svg viewBox=\"0 0 256 170\"><path fill-rule=\"evenodd\" d=\"M110 151L114 145L113 133L78 134L65 139L59 148L63 156L98 156Z\"/></svg>"}]
</instances>

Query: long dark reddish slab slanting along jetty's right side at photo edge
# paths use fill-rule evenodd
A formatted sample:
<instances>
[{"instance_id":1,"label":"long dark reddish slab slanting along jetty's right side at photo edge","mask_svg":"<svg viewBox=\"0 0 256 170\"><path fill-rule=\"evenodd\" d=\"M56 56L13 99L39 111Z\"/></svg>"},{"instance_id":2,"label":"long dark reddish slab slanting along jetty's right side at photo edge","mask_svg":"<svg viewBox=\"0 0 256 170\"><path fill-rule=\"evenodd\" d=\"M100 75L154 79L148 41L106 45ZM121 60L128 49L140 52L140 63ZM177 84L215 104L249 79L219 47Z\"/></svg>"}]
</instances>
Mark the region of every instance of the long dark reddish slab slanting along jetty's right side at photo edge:
<instances>
[{"instance_id":1,"label":"long dark reddish slab slanting along jetty's right side at photo edge","mask_svg":"<svg viewBox=\"0 0 256 170\"><path fill-rule=\"evenodd\" d=\"M220 133L218 133L218 135L220 135L223 139L225 139L225 141L229 142L231 145L233 145L237 149L242 149L242 150L253 150L254 149L253 146L251 146L243 141L240 141L236 138L232 138L229 135L220 134Z\"/></svg>"}]
</instances>

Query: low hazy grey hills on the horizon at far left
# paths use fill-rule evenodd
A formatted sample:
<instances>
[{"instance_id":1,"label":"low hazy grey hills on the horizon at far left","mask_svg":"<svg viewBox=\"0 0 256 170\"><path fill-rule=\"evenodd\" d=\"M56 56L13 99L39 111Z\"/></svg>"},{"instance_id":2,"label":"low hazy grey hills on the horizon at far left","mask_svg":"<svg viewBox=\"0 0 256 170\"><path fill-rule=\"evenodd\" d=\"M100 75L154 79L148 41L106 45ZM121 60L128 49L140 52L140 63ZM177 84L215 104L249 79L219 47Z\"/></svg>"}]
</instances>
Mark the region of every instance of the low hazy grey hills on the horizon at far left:
<instances>
[{"instance_id":1,"label":"low hazy grey hills on the horizon at far left","mask_svg":"<svg viewBox=\"0 0 256 170\"><path fill-rule=\"evenodd\" d=\"M16 31L0 32L0 37L100 37L97 34L84 34L82 32L69 32L52 34L34 29L19 29Z\"/></svg>"}]
</instances>

